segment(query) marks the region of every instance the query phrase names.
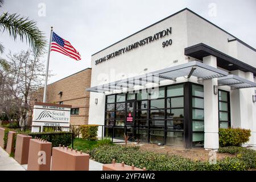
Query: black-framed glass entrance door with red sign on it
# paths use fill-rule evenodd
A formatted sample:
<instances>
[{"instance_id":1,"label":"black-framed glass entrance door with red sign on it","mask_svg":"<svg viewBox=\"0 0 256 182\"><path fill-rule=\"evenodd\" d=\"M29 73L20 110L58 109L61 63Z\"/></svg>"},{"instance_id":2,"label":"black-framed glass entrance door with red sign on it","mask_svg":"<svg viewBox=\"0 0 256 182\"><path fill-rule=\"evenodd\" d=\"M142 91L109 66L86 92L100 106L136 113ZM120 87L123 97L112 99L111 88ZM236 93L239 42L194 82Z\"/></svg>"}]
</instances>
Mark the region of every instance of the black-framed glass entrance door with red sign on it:
<instances>
[{"instance_id":1,"label":"black-framed glass entrance door with red sign on it","mask_svg":"<svg viewBox=\"0 0 256 182\"><path fill-rule=\"evenodd\" d=\"M129 136L129 140L134 139L134 122L135 122L135 113L134 108L135 101L127 101L125 104L126 112L125 112L125 123L126 123L126 135Z\"/></svg>"}]
</instances>

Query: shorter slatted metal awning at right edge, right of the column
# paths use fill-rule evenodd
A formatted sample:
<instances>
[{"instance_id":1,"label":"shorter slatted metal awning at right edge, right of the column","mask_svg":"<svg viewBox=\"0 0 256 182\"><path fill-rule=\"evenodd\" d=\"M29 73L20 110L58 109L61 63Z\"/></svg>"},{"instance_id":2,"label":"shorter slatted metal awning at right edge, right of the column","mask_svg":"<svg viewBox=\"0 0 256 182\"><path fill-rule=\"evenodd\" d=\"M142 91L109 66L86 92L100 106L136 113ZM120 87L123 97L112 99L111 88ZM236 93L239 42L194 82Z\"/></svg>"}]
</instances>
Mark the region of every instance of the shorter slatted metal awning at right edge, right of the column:
<instances>
[{"instance_id":1,"label":"shorter slatted metal awning at right edge, right of the column","mask_svg":"<svg viewBox=\"0 0 256 182\"><path fill-rule=\"evenodd\" d=\"M218 85L228 85L232 89L256 87L256 83L236 75L228 75L218 78Z\"/></svg>"}]
</instances>

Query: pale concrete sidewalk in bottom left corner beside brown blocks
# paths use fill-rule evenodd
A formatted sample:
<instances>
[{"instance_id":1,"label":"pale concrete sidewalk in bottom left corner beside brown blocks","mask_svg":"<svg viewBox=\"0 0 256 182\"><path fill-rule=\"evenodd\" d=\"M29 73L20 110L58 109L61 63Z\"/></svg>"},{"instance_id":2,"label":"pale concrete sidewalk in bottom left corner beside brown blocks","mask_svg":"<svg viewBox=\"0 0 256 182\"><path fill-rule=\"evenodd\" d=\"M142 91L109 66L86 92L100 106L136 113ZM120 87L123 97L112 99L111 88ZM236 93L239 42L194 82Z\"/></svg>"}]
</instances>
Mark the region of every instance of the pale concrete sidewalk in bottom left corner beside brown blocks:
<instances>
[{"instance_id":1,"label":"pale concrete sidewalk in bottom left corner beside brown blocks","mask_svg":"<svg viewBox=\"0 0 256 182\"><path fill-rule=\"evenodd\" d=\"M25 169L0 147L0 171L25 171Z\"/></svg>"}]
</instances>

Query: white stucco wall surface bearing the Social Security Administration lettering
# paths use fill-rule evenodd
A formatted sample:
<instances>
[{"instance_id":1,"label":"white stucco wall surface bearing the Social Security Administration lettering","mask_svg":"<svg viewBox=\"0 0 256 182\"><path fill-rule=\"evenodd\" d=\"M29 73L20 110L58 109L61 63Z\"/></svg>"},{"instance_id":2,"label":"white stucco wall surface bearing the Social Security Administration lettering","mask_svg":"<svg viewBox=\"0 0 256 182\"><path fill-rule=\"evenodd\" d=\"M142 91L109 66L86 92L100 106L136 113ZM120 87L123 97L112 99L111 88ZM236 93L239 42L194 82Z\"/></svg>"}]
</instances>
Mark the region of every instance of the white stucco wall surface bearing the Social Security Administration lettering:
<instances>
[{"instance_id":1,"label":"white stucco wall surface bearing the Social Security Administration lettering","mask_svg":"<svg viewBox=\"0 0 256 182\"><path fill-rule=\"evenodd\" d=\"M94 64L94 61L101 57L109 55L112 52L118 51L121 48L129 46L130 44L170 27L172 27L171 35L155 40L154 42L133 49L117 57L113 57L112 59L106 60L100 64ZM172 39L172 45L163 48L162 43L169 39ZM93 55L91 86L108 84L109 82L142 75L143 73L157 71L177 64L183 64L187 61L192 61L194 60L192 57L191 59L187 59L187 56L184 55L184 48L199 43L207 44L208 46L218 49L229 56L235 57L236 59L256 67L255 51L244 46L240 42L228 42L228 39L234 39L234 37L220 30L220 28L208 23L204 19L199 18L190 11L182 11L179 14L171 16L154 26L148 27L137 34L130 36L129 38L122 40L101 52L98 52L96 55ZM174 60L177 60L177 63L174 63ZM147 71L144 71L144 68L147 68ZM232 73L246 78L246 73L244 72L234 71ZM256 78L252 79L256 82ZM197 82L197 79L191 77L191 79L187 80L182 77L177 78L176 83L184 81ZM166 82L166 84L172 83L173 81ZM202 84L202 81L197 83ZM255 133L256 104L252 104L251 101L251 94L254 90L230 90L229 86L220 86L220 89L230 91L232 126L250 128ZM96 98L98 99L98 104L95 104ZM248 114L250 114L250 116L248 116ZM91 92L89 124L104 125L104 115L105 94ZM248 119L250 121L248 121ZM101 131L99 131L99 135L101 135ZM250 142L256 143L256 134L254 134L254 137L251 137Z\"/></svg>"}]
</instances>

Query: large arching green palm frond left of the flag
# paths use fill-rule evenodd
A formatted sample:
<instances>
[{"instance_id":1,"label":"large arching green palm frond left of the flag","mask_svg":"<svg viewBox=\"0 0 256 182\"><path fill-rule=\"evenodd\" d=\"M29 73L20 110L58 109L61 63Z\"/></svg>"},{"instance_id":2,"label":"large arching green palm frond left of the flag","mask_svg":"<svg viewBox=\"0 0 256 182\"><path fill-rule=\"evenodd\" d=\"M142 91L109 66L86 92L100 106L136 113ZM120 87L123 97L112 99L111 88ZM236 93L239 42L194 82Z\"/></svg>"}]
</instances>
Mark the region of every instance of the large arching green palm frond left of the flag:
<instances>
[{"instance_id":1,"label":"large arching green palm frond left of the flag","mask_svg":"<svg viewBox=\"0 0 256 182\"><path fill-rule=\"evenodd\" d=\"M42 53L46 46L46 39L43 32L36 26L36 22L17 14L3 13L0 16L0 31L9 32L14 40L17 39L17 36L22 42L26 40L26 43L30 44L36 53Z\"/></svg>"}]
</instances>

